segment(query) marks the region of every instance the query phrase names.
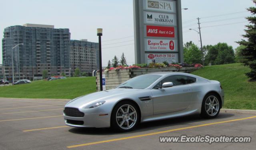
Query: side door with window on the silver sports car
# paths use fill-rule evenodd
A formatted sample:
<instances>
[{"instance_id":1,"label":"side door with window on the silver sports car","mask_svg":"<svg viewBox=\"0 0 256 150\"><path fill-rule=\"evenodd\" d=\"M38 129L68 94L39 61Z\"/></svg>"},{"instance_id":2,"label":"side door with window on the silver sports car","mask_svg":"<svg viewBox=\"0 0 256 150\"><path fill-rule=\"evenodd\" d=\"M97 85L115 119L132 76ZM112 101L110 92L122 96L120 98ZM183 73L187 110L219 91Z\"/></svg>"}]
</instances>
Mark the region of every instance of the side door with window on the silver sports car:
<instances>
[{"instance_id":1,"label":"side door with window on the silver sports car","mask_svg":"<svg viewBox=\"0 0 256 150\"><path fill-rule=\"evenodd\" d=\"M152 89L154 115L182 111L191 101L192 88L188 84L187 76L172 75L164 78L154 88L165 82L172 82L170 88Z\"/></svg>"}]
</instances>

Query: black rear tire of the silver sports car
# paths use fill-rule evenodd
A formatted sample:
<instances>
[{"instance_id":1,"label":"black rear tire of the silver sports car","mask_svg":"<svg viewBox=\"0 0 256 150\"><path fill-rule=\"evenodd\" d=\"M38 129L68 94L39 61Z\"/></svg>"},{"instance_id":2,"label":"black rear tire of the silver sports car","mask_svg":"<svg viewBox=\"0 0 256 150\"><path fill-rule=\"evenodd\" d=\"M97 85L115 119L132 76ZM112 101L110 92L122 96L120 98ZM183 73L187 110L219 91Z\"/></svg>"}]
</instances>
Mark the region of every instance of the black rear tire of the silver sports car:
<instances>
[{"instance_id":1,"label":"black rear tire of the silver sports car","mask_svg":"<svg viewBox=\"0 0 256 150\"><path fill-rule=\"evenodd\" d=\"M210 97L210 100L208 99L209 97ZM210 103L210 101L214 101L214 103ZM216 101L218 101L218 102L216 102ZM218 107L216 105L217 103L218 103ZM213 111L212 111L212 107L214 107ZM203 118L206 118L206 119L215 118L220 113L220 108L221 108L221 99L220 99L219 95L217 95L215 93L209 93L203 99L200 116ZM209 111L207 112L207 110L209 110Z\"/></svg>"}]
</instances>

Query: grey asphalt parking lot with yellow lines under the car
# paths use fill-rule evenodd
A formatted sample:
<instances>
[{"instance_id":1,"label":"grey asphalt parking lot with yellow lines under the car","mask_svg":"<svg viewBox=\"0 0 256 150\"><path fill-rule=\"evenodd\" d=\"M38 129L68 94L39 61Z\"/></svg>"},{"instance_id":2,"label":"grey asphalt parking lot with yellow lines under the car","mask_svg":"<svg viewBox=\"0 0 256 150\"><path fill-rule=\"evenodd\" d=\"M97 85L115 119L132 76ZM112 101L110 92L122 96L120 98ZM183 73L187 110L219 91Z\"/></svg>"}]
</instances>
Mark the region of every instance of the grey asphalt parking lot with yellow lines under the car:
<instances>
[{"instance_id":1,"label":"grey asphalt parking lot with yellow lines under the car","mask_svg":"<svg viewBox=\"0 0 256 150\"><path fill-rule=\"evenodd\" d=\"M142 123L135 131L65 126L68 100L0 98L0 150L255 150L256 115L220 113ZM251 136L251 143L160 143L159 136Z\"/></svg>"}]
</instances>

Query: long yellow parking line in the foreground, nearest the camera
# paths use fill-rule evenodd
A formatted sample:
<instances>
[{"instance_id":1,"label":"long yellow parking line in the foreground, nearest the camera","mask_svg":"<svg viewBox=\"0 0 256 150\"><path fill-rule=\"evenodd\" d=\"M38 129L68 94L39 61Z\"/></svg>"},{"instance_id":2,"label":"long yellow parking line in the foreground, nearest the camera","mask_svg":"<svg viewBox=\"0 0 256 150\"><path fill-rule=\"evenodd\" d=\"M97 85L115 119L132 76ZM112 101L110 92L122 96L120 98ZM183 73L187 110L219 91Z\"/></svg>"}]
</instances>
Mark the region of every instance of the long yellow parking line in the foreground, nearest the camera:
<instances>
[{"instance_id":1,"label":"long yellow parking line in the foreground, nearest the camera","mask_svg":"<svg viewBox=\"0 0 256 150\"><path fill-rule=\"evenodd\" d=\"M118 141L118 140L126 140L126 139L131 139L131 138L138 138L138 137L143 137L143 136L150 136L150 135L155 135L155 134L161 134L161 133L173 132L173 131L180 131L180 130L185 130L185 129L192 129L192 128L204 127L204 126L209 126L209 125L216 125L216 124L221 124L221 123L229 123L229 122L233 122L233 121L241 121L241 120L252 119L252 118L256 118L256 116L246 117L246 118L241 118L241 119L228 120L228 121L220 121L220 122L216 122L216 123L207 123L207 124L203 124L203 125L195 125L195 126L190 126L190 127L171 129L171 130L153 132L153 133L148 133L148 134L141 134L141 135L136 135L136 136L128 136L128 137L123 137L123 138L114 138L114 139L111 139L111 140L102 140L102 141L98 141L98 142L90 142L90 143L85 143L85 144L72 145L72 146L67 146L67 148L76 148L76 147L80 147L80 146L88 146L88 145L94 145L94 144L100 144L100 143L106 143L106 142L113 142L113 141Z\"/></svg>"}]
</instances>

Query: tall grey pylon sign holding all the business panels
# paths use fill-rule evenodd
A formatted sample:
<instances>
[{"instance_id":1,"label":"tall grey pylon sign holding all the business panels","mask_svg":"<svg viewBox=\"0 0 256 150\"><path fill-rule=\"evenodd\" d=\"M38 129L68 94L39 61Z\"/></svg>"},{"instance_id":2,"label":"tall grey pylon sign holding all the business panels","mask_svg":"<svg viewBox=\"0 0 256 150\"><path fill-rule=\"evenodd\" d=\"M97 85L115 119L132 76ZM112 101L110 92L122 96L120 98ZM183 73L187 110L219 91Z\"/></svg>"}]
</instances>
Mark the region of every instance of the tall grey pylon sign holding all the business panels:
<instances>
[{"instance_id":1,"label":"tall grey pylon sign holding all the business panels","mask_svg":"<svg viewBox=\"0 0 256 150\"><path fill-rule=\"evenodd\" d=\"M135 63L183 62L181 0L133 0Z\"/></svg>"}]
</instances>

